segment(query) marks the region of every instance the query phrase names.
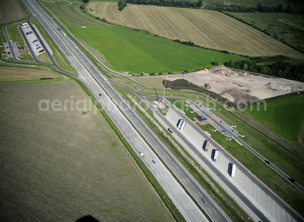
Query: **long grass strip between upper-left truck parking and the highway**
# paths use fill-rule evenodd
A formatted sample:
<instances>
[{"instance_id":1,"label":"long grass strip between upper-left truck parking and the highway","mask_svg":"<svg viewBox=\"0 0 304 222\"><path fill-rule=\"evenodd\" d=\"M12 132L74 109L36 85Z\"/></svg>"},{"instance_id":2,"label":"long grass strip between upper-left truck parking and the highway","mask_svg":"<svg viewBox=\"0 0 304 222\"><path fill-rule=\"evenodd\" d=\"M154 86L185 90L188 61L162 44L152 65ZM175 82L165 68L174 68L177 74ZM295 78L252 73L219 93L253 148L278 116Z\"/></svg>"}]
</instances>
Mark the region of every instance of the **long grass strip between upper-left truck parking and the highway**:
<instances>
[{"instance_id":1,"label":"long grass strip between upper-left truck parking and the highway","mask_svg":"<svg viewBox=\"0 0 304 222\"><path fill-rule=\"evenodd\" d=\"M63 52L59 49L59 47L57 46L57 44L54 42L53 38L50 37L49 33L47 33L42 28L42 26L41 26L40 22L38 21L38 19L36 17L34 17L30 21L31 21L31 23L33 23L33 24L36 25L36 27L40 31L41 35L45 39L45 41L47 41L47 44L49 44L49 46L51 47L51 49L53 51L53 55L52 56L55 59L55 61L57 62L57 64L60 66L60 68L66 70L68 72L72 72L72 73L78 75L78 73L76 72L76 70L71 66L70 62L67 60L67 58L63 54Z\"/></svg>"}]
</instances>

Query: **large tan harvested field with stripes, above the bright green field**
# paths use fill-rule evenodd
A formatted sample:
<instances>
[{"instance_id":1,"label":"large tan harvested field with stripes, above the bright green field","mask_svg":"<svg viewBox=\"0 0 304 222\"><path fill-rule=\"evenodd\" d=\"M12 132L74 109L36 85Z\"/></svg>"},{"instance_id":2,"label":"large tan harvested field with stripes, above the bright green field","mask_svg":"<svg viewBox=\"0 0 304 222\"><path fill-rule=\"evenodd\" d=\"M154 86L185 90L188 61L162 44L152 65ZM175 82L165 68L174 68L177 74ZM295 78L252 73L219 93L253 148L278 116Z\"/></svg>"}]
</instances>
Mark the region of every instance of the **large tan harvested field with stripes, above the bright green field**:
<instances>
[{"instance_id":1,"label":"large tan harvested field with stripes, above the bright green field","mask_svg":"<svg viewBox=\"0 0 304 222\"><path fill-rule=\"evenodd\" d=\"M90 2L87 8L93 15L111 23L147 30L169 39L192 41L207 48L240 55L304 58L288 45L216 11L127 5L119 12L113 2Z\"/></svg>"}]
</instances>

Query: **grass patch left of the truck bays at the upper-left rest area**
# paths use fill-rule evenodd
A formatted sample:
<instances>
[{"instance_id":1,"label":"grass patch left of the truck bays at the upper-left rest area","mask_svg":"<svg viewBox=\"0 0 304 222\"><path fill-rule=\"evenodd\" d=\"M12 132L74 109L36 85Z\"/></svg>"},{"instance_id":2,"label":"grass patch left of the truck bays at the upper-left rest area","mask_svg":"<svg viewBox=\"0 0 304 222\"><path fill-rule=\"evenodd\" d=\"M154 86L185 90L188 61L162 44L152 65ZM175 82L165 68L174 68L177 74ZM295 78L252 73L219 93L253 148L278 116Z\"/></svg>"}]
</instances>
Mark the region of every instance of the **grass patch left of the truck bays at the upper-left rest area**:
<instances>
[{"instance_id":1,"label":"grass patch left of the truck bays at the upper-left rest area","mask_svg":"<svg viewBox=\"0 0 304 222\"><path fill-rule=\"evenodd\" d=\"M18 25L19 24L6 26L6 30L7 30L7 33L9 34L9 38L10 38L10 40L12 40L12 42L16 42L16 45L20 45L26 49L25 51L19 51L19 53L20 53L20 57L18 57L19 59L26 60L26 61L34 61L32 56L29 55L29 49L26 46L25 42L23 41L23 38L17 28ZM21 54L21 53L23 53L23 54Z\"/></svg>"}]
</instances>

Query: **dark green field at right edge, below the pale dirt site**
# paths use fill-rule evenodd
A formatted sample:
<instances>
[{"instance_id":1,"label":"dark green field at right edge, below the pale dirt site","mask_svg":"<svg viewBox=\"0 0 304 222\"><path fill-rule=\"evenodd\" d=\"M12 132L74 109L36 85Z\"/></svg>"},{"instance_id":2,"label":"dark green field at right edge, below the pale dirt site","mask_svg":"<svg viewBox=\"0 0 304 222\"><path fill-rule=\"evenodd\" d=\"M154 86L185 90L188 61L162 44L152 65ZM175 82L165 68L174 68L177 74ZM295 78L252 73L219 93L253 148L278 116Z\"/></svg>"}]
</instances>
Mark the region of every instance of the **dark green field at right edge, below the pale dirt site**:
<instances>
[{"instance_id":1,"label":"dark green field at right edge, below the pale dirt site","mask_svg":"<svg viewBox=\"0 0 304 222\"><path fill-rule=\"evenodd\" d=\"M253 105L253 111L248 108L246 112L278 135L299 143L299 132L304 120L303 104L302 94L270 101L266 104L267 111L264 111L264 104L261 103L260 111L257 111L257 105Z\"/></svg>"}]
</instances>

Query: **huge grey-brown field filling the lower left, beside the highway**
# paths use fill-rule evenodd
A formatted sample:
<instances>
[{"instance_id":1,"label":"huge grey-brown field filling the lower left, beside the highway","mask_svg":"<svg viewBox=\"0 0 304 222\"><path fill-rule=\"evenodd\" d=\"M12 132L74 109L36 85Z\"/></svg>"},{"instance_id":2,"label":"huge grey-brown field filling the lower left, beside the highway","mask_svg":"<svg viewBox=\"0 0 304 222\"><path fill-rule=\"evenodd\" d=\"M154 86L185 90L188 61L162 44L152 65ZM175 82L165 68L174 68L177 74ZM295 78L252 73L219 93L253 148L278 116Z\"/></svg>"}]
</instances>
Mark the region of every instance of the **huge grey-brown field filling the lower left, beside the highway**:
<instances>
[{"instance_id":1,"label":"huge grey-brown field filling the lower left, beside the highway","mask_svg":"<svg viewBox=\"0 0 304 222\"><path fill-rule=\"evenodd\" d=\"M67 111L38 109L41 99L71 97ZM108 125L76 110L78 100L88 98L69 80L0 86L0 220L172 221Z\"/></svg>"}]
</instances>

